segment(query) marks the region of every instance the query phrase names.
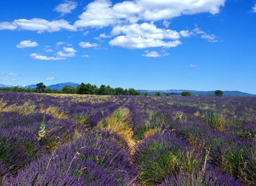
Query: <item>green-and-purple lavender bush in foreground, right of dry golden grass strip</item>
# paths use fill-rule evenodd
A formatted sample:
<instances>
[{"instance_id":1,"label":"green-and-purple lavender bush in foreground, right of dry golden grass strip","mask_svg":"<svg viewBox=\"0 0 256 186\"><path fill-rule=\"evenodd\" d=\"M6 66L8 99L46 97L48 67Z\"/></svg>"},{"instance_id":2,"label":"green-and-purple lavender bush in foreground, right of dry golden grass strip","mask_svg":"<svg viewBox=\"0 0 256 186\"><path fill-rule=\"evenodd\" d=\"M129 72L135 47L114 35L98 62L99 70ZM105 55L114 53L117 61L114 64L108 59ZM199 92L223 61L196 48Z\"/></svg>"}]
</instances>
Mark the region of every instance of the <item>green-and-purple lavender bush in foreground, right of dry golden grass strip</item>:
<instances>
[{"instance_id":1,"label":"green-and-purple lavender bush in foreground, right of dry golden grass strip","mask_svg":"<svg viewBox=\"0 0 256 186\"><path fill-rule=\"evenodd\" d=\"M175 134L163 128L138 145L135 163L142 183L159 184L165 175L175 175L180 170L189 173L201 169L203 156L189 148Z\"/></svg>"}]
</instances>

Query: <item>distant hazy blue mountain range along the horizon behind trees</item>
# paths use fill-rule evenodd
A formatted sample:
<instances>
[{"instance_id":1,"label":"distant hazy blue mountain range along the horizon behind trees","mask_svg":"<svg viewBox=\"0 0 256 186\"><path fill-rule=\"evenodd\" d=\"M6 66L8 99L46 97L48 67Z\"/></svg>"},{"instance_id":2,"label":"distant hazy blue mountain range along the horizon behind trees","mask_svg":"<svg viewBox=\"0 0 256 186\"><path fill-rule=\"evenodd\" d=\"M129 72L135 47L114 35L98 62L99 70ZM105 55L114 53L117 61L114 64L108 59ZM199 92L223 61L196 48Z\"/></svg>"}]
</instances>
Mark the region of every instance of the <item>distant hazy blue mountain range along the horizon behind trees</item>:
<instances>
[{"instance_id":1,"label":"distant hazy blue mountain range along the horizon behind trees","mask_svg":"<svg viewBox=\"0 0 256 186\"><path fill-rule=\"evenodd\" d=\"M57 90L62 90L62 88L67 85L71 87L77 87L79 84L74 83L74 82L66 82L66 83L58 83L58 84L52 84L50 86L46 86L46 88L50 89L57 89ZM0 88L7 88L7 87L15 87L13 85L5 85L5 84L0 84ZM36 84L30 84L28 86L17 86L17 87L23 87L23 88L36 88ZM137 90L141 92L142 94L145 92L148 92L149 95L155 95L156 92L161 92L162 95L165 95L166 93L169 93L170 95L180 95L181 92L183 91L189 91L191 92L192 95L198 95L198 96L213 96L215 90L211 91L198 91L198 90L177 90L177 89L170 89L170 90ZM253 96L256 97L254 94L249 94L246 92L241 92L241 91L223 91L223 96Z\"/></svg>"}]
</instances>

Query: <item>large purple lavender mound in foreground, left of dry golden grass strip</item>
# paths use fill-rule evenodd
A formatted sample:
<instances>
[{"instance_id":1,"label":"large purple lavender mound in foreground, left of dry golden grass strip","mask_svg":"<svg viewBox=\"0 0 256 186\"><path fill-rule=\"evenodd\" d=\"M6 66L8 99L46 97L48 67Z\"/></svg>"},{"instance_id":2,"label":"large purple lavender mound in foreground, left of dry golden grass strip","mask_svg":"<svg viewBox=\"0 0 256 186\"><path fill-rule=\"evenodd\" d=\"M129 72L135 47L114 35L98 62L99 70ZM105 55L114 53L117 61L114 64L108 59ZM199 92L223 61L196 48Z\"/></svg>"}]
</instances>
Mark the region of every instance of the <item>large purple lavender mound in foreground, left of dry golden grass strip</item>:
<instances>
[{"instance_id":1,"label":"large purple lavender mound in foreground, left of dry golden grass strip","mask_svg":"<svg viewBox=\"0 0 256 186\"><path fill-rule=\"evenodd\" d=\"M127 185L133 184L135 172L127 153L127 144L108 131L88 131L44 154L17 176L5 176L3 184L10 185Z\"/></svg>"}]
</instances>

